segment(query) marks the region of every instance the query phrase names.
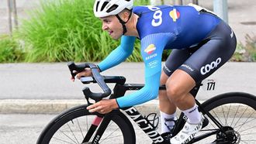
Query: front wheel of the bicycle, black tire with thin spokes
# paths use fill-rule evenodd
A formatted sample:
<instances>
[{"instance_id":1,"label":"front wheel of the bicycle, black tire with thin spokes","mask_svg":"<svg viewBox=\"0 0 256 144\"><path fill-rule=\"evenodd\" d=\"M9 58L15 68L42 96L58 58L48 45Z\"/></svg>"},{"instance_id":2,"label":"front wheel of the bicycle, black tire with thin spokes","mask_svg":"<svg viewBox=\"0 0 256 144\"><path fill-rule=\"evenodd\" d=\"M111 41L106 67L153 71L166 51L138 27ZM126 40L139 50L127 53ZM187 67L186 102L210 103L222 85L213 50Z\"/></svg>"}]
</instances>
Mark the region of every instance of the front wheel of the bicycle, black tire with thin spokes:
<instances>
[{"instance_id":1,"label":"front wheel of the bicycle, black tire with thin spokes","mask_svg":"<svg viewBox=\"0 0 256 144\"><path fill-rule=\"evenodd\" d=\"M37 140L37 144L48 144L48 143L82 143L82 140L85 138L85 134L87 133L85 126L87 127L92 122L84 122L85 120L90 121L95 117L96 113L90 113L86 109L88 105L79 105L77 107L71 108L67 111L61 113L61 115L57 115L46 127L43 129L43 132L40 134L39 139ZM84 118L82 122L81 120ZM85 125L86 124L86 125ZM82 126L81 126L82 125ZM111 125L111 127L109 126ZM115 114L112 115L111 122L109 122L107 129L104 131L101 139L99 139L98 143L125 143L125 144L133 144L136 143L135 132L133 129L133 125L129 121L129 119L121 112L116 111ZM104 137L115 135L110 132L106 132L109 130L113 130L113 133L116 134L116 137ZM75 130L74 130L75 129ZM88 129L87 129L88 130ZM67 132L70 131L70 132ZM81 133L80 133L81 132ZM97 130L95 131L97 132ZM111 136L112 136L111 135ZM57 136L57 137L56 137ZM94 136L94 135L93 135ZM111 138L110 140L107 138ZM90 139L92 140L92 139ZM85 142L92 143L92 142Z\"/></svg>"}]
</instances>

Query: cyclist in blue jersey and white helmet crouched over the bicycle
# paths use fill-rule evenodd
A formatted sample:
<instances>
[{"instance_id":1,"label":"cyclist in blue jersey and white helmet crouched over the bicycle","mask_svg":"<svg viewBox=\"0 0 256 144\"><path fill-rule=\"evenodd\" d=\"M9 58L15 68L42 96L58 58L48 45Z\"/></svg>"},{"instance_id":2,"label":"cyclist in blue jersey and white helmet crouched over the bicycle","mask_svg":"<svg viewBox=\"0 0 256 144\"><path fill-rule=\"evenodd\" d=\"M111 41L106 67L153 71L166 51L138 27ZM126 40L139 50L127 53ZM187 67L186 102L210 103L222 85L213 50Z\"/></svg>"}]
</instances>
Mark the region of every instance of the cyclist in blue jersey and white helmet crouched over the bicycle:
<instances>
[{"instance_id":1,"label":"cyclist in blue jersey and white helmet crouched over the bicycle","mask_svg":"<svg viewBox=\"0 0 256 144\"><path fill-rule=\"evenodd\" d=\"M198 5L133 7L133 0L96 0L94 13L102 20L102 29L109 36L121 37L120 45L99 63L99 70L126 60L133 52L135 39L140 39L145 86L121 98L99 101L89 106L89 111L104 114L116 108L139 105L157 98L159 92L163 135L174 127L178 107L187 122L182 131L171 138L171 143L189 142L202 129L204 119L189 91L233 55L237 42L230 26ZM161 55L169 49L171 54L161 71ZM91 74L86 69L77 78ZM167 90L158 91L160 84L165 84Z\"/></svg>"}]
</instances>

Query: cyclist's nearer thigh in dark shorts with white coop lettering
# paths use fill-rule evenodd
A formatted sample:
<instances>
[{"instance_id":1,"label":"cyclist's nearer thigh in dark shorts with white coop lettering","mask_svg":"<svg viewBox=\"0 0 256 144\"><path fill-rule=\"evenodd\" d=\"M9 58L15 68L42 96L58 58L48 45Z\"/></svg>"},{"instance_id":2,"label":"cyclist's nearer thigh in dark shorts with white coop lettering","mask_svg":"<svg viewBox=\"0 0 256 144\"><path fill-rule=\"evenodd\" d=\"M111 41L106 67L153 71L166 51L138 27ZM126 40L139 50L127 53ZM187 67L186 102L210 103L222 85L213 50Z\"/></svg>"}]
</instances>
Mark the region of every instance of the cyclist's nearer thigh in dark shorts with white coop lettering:
<instances>
[{"instance_id":1,"label":"cyclist's nearer thigh in dark shorts with white coop lettering","mask_svg":"<svg viewBox=\"0 0 256 144\"><path fill-rule=\"evenodd\" d=\"M202 81L232 57L236 46L237 40L233 31L221 22L209 34L209 41L196 50L178 69L185 70L195 82Z\"/></svg>"}]
</instances>

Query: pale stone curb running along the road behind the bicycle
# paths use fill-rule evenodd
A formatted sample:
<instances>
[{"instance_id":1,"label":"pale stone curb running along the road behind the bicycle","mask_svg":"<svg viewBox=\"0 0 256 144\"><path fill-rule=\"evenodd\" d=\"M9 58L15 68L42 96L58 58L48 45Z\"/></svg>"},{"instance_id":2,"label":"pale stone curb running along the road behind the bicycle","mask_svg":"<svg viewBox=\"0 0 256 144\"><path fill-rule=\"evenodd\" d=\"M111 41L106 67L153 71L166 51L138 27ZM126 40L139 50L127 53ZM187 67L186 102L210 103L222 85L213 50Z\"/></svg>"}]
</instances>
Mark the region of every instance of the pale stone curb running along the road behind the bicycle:
<instances>
[{"instance_id":1,"label":"pale stone curb running along the road behind the bicycle","mask_svg":"<svg viewBox=\"0 0 256 144\"><path fill-rule=\"evenodd\" d=\"M200 101L202 103L203 101ZM58 114L61 111L65 111L77 105L84 105L87 102L85 100L78 99L65 99L65 100L25 100L25 99L4 99L0 100L0 114ZM137 110L142 115L149 113L157 113L159 115L158 100L152 100L144 103L143 105L137 105ZM254 114L253 108L247 109L245 105L226 105L222 108L216 108L215 113L221 113L224 110L230 111L230 115L236 115L237 110L244 111L244 115ZM180 111L178 111L179 113ZM256 118L256 114L252 115Z\"/></svg>"}]
</instances>

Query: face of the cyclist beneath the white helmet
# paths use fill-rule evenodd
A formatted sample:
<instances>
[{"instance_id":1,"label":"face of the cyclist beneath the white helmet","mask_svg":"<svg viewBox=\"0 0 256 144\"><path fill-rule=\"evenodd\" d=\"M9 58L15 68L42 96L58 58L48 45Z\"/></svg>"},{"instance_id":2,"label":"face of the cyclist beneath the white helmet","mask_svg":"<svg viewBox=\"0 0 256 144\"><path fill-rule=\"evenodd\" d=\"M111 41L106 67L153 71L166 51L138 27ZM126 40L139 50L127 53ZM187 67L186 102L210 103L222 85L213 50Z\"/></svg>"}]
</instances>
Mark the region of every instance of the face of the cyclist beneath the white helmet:
<instances>
[{"instance_id":1,"label":"face of the cyclist beneath the white helmet","mask_svg":"<svg viewBox=\"0 0 256 144\"><path fill-rule=\"evenodd\" d=\"M122 24L116 18L116 15L110 15L100 19L102 20L102 29L108 31L113 39L119 39L123 35Z\"/></svg>"}]
</instances>

